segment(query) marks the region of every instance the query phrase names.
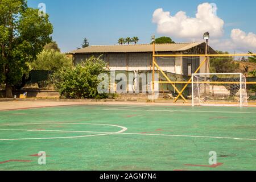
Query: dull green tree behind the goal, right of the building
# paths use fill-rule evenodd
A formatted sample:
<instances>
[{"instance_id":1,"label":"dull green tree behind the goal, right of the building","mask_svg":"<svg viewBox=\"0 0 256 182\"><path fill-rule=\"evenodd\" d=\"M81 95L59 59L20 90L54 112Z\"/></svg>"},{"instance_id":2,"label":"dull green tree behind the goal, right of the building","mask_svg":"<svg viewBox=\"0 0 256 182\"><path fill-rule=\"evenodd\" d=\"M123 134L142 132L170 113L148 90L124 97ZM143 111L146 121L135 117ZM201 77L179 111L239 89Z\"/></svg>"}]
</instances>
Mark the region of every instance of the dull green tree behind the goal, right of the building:
<instances>
[{"instance_id":1,"label":"dull green tree behind the goal, right of the building","mask_svg":"<svg viewBox=\"0 0 256 182\"><path fill-rule=\"evenodd\" d=\"M216 51L219 54L228 54L228 52ZM210 71L215 73L232 73L236 72L239 64L233 60L232 56L211 57Z\"/></svg>"}]
</instances>

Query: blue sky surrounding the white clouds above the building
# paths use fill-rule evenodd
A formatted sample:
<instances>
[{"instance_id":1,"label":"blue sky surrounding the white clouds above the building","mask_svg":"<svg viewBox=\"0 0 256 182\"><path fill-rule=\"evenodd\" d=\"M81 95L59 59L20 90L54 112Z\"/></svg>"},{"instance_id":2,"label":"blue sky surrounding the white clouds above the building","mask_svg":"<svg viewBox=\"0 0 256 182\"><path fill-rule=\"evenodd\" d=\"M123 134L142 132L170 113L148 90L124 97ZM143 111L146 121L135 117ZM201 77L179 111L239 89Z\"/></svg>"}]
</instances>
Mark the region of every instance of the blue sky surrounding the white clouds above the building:
<instances>
[{"instance_id":1,"label":"blue sky surrounding the white clouds above the building","mask_svg":"<svg viewBox=\"0 0 256 182\"><path fill-rule=\"evenodd\" d=\"M170 11L172 16L185 11L187 16L195 17L197 6L204 2L216 3L217 16L225 22L224 34L214 38L217 42L212 40L213 48L223 49L221 41L229 41L234 28L246 34L256 34L256 1L251 0L28 0L28 6L37 8L39 3L46 4L54 27L53 40L62 52L68 52L80 47L83 38L87 38L90 45L117 44L118 38L127 36L138 36L139 43L149 43L152 34L166 36L157 32L157 24L152 23L156 9ZM175 42L188 40L181 36L171 37ZM234 49L239 50L237 47L226 48L228 51Z\"/></svg>"}]
</instances>

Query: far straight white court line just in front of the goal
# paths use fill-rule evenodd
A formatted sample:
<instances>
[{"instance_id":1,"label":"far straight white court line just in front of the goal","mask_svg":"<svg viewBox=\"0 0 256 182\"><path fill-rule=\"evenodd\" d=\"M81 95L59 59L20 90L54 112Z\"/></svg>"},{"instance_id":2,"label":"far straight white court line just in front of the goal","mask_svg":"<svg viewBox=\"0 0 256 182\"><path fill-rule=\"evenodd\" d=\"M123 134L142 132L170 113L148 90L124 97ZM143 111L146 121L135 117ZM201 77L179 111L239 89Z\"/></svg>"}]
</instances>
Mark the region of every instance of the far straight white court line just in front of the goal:
<instances>
[{"instance_id":1,"label":"far straight white court line just in front of the goal","mask_svg":"<svg viewBox=\"0 0 256 182\"><path fill-rule=\"evenodd\" d=\"M154 110L154 109L108 109L122 111L165 111L165 112L187 112L187 113L239 113L239 114L256 114L256 112L236 112L236 111L206 111L206 110Z\"/></svg>"}]
</instances>

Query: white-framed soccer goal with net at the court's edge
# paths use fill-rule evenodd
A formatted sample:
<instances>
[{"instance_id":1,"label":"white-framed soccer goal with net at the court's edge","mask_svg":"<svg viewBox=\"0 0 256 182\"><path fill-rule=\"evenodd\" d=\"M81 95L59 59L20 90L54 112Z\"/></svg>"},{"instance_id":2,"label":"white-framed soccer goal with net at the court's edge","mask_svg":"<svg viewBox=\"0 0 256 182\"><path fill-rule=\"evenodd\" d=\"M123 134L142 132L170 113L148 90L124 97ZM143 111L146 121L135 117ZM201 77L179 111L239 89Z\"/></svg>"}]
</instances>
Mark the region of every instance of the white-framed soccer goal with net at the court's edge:
<instances>
[{"instance_id":1,"label":"white-framed soccer goal with net at the court's edge","mask_svg":"<svg viewBox=\"0 0 256 182\"><path fill-rule=\"evenodd\" d=\"M246 106L246 77L242 73L192 74L192 105Z\"/></svg>"}]
</instances>

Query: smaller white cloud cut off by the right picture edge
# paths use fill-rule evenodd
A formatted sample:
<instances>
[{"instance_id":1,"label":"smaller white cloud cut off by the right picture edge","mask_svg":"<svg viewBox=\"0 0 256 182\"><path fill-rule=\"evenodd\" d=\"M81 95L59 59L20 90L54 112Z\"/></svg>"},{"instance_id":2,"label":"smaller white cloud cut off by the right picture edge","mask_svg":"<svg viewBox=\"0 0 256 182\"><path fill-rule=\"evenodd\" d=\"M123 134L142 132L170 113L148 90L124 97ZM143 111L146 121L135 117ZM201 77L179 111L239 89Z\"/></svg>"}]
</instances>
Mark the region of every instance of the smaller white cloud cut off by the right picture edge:
<instances>
[{"instance_id":1,"label":"smaller white cloud cut off by the right picture edge","mask_svg":"<svg viewBox=\"0 0 256 182\"><path fill-rule=\"evenodd\" d=\"M236 44L237 49L241 51L256 51L256 34L253 32L246 32L240 29L233 29L231 31L230 38L234 44Z\"/></svg>"}]
</instances>

